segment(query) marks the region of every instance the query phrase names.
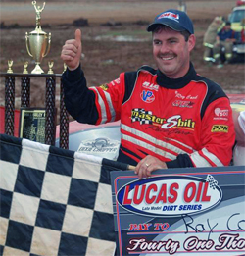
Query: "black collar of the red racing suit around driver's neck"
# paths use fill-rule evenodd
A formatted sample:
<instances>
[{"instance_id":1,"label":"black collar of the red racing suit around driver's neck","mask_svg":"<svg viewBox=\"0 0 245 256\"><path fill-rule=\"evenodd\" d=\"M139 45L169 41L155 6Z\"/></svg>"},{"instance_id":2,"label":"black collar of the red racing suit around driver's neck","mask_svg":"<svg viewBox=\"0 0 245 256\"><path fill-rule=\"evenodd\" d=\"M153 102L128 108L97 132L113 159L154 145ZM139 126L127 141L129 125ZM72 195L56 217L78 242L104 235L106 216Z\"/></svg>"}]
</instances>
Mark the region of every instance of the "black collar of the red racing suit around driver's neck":
<instances>
[{"instance_id":1,"label":"black collar of the red racing suit around driver's neck","mask_svg":"<svg viewBox=\"0 0 245 256\"><path fill-rule=\"evenodd\" d=\"M187 74L184 77L173 79L164 75L160 70L157 70L157 83L168 89L180 89L188 84L191 80L195 79L196 71L190 63L190 68Z\"/></svg>"}]
</instances>

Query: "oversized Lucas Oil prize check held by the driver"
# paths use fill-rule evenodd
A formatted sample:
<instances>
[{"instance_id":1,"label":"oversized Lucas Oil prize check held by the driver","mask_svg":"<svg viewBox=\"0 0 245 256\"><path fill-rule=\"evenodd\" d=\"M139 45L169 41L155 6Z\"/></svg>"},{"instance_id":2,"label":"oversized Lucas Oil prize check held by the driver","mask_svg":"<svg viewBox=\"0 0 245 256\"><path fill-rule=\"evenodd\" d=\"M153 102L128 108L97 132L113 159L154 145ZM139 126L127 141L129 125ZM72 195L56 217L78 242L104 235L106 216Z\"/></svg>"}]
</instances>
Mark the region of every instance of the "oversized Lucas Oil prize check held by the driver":
<instances>
[{"instance_id":1,"label":"oversized Lucas Oil prize check held by the driver","mask_svg":"<svg viewBox=\"0 0 245 256\"><path fill-rule=\"evenodd\" d=\"M111 173L117 255L245 255L245 167Z\"/></svg>"}]
</instances>

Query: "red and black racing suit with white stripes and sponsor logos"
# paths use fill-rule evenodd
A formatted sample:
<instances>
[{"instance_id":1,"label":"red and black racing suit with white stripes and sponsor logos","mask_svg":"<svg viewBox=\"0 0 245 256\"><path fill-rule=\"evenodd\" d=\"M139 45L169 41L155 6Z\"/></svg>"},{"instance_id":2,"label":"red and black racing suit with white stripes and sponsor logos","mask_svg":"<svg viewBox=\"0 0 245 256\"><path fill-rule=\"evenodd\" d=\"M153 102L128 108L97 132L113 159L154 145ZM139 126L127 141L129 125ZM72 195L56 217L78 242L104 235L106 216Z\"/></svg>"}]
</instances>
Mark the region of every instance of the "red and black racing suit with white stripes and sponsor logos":
<instances>
[{"instance_id":1,"label":"red and black racing suit with white stripes and sponsor logos","mask_svg":"<svg viewBox=\"0 0 245 256\"><path fill-rule=\"evenodd\" d=\"M80 67L63 74L65 104L75 120L121 120L118 161L136 165L147 155L168 168L229 165L235 133L229 99L192 64L181 78L148 66L100 87L87 88Z\"/></svg>"}]
</instances>

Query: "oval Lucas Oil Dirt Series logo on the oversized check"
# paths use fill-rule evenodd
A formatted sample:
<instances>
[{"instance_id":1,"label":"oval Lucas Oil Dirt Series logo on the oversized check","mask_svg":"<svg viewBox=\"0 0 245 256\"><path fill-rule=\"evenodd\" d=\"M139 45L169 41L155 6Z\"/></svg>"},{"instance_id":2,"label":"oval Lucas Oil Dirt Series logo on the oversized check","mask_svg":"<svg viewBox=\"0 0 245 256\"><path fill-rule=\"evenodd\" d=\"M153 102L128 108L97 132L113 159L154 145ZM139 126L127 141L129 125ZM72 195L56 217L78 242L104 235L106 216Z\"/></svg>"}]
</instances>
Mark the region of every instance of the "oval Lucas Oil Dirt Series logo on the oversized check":
<instances>
[{"instance_id":1,"label":"oval Lucas Oil Dirt Series logo on the oversized check","mask_svg":"<svg viewBox=\"0 0 245 256\"><path fill-rule=\"evenodd\" d=\"M178 217L194 215L216 207L221 187L213 176L206 179L163 176L138 179L123 185L118 203L127 211L144 216Z\"/></svg>"}]
</instances>

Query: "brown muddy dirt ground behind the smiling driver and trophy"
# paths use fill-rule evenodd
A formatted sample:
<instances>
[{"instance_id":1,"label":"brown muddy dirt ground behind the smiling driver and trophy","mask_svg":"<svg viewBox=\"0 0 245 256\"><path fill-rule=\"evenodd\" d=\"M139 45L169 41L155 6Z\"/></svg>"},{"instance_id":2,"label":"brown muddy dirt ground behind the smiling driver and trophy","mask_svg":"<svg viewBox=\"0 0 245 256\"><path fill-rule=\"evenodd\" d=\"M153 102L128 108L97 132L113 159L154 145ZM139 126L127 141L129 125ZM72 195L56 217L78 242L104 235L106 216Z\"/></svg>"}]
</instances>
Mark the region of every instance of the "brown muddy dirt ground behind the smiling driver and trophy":
<instances>
[{"instance_id":1,"label":"brown muddy dirt ground behind the smiling driver and trophy","mask_svg":"<svg viewBox=\"0 0 245 256\"><path fill-rule=\"evenodd\" d=\"M221 84L226 93L245 93L244 63L225 65L218 69L203 61L204 33L216 16L231 12L235 0L193 0L185 1L188 15L193 20L197 44L192 52L192 61L197 72ZM42 1L37 1L42 6ZM52 34L50 53L43 59L41 67L48 71L48 62L54 61L54 72L64 70L60 52L64 42L73 38L76 28L82 29L82 66L88 86L97 86L119 77L124 71L131 71L142 65L155 67L152 58L151 34L147 25L160 12L177 8L178 1L146 0L73 0L47 1L41 14L42 29ZM14 73L23 73L23 62L28 61L28 71L34 68L34 61L25 47L25 32L35 28L35 11L31 1L1 1L0 29L0 71L8 69L8 60L14 61ZM87 20L88 26L74 26L73 21ZM12 27L12 28L11 28ZM14 28L13 28L14 27ZM59 94L57 80L57 95ZM31 107L44 106L45 80L31 78ZM4 79L0 83L0 105L4 105ZM57 103L57 107L58 107ZM16 108L20 108L20 83L16 82Z\"/></svg>"}]
</instances>

